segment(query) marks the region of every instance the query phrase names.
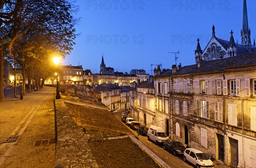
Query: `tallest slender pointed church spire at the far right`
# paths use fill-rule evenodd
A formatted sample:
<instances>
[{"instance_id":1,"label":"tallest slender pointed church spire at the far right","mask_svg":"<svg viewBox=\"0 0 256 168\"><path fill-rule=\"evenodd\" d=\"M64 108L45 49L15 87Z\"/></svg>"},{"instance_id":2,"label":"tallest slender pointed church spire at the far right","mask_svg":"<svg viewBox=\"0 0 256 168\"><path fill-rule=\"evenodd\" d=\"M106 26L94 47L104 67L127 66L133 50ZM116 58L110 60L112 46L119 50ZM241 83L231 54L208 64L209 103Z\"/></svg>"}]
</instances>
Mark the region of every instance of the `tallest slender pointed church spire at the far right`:
<instances>
[{"instance_id":1,"label":"tallest slender pointed church spire at the far right","mask_svg":"<svg viewBox=\"0 0 256 168\"><path fill-rule=\"evenodd\" d=\"M244 0L244 8L243 8L243 29L241 30L241 40L242 45L247 48L250 52L251 40L250 40L250 28L248 26L248 17L247 17L247 6L246 0Z\"/></svg>"}]
</instances>

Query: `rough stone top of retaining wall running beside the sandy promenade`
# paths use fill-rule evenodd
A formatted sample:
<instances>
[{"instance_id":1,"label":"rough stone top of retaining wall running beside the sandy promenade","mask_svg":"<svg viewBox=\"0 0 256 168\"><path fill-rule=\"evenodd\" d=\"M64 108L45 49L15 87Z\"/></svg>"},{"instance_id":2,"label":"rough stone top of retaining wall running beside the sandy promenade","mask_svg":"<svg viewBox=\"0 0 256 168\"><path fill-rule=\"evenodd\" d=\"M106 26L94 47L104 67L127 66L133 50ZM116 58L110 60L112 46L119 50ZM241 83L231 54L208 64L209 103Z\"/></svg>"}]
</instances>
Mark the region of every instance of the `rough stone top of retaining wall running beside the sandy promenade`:
<instances>
[{"instance_id":1,"label":"rough stone top of retaining wall running beside the sandy promenade","mask_svg":"<svg viewBox=\"0 0 256 168\"><path fill-rule=\"evenodd\" d=\"M70 116L62 100L55 100L57 144L55 168L96 168L83 131Z\"/></svg>"}]
</instances>

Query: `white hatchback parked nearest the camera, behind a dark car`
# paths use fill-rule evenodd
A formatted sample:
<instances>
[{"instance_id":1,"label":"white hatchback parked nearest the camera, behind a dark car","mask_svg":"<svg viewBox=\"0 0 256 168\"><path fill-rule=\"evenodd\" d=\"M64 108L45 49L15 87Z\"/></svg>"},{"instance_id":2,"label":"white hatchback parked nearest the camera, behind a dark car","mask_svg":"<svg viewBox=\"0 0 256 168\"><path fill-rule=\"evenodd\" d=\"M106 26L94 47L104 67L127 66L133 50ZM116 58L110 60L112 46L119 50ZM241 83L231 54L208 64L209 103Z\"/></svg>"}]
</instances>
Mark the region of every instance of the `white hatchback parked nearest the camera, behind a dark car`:
<instances>
[{"instance_id":1,"label":"white hatchback parked nearest the camera, behind a dark car","mask_svg":"<svg viewBox=\"0 0 256 168\"><path fill-rule=\"evenodd\" d=\"M195 148L186 148L183 159L185 162L191 162L196 168L214 167L212 160L204 152Z\"/></svg>"}]
</instances>

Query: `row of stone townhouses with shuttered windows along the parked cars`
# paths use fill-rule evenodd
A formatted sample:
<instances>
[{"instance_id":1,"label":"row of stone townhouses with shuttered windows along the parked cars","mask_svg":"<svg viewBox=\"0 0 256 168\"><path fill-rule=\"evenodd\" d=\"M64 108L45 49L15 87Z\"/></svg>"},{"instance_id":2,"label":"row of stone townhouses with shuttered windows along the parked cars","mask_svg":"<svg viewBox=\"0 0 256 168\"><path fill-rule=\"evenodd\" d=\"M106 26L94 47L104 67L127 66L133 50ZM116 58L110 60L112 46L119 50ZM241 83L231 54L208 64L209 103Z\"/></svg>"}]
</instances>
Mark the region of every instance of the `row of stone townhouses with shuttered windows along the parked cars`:
<instances>
[{"instance_id":1,"label":"row of stone townhouses with shuttered windows along the parked cars","mask_svg":"<svg viewBox=\"0 0 256 168\"><path fill-rule=\"evenodd\" d=\"M138 121L153 122L225 165L256 167L256 52L158 67L154 88L154 98L146 88L131 90L131 114Z\"/></svg>"}]
</instances>

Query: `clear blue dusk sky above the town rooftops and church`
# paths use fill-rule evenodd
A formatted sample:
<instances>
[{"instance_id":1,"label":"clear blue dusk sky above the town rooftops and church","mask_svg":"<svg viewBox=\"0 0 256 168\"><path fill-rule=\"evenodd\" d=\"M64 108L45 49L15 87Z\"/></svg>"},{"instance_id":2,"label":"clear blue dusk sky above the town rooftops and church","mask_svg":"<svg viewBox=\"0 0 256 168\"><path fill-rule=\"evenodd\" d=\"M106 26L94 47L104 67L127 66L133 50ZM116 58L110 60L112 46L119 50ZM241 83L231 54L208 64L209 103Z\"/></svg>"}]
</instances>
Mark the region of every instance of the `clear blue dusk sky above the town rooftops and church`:
<instances>
[{"instance_id":1,"label":"clear blue dusk sky above the town rooftops and church","mask_svg":"<svg viewBox=\"0 0 256 168\"><path fill-rule=\"evenodd\" d=\"M82 65L99 73L102 53L107 67L151 74L157 64L172 68L195 64L197 38L201 48L215 36L241 43L243 0L77 0L81 18L76 45L62 65ZM248 23L256 38L256 0L247 0Z\"/></svg>"}]
</instances>

